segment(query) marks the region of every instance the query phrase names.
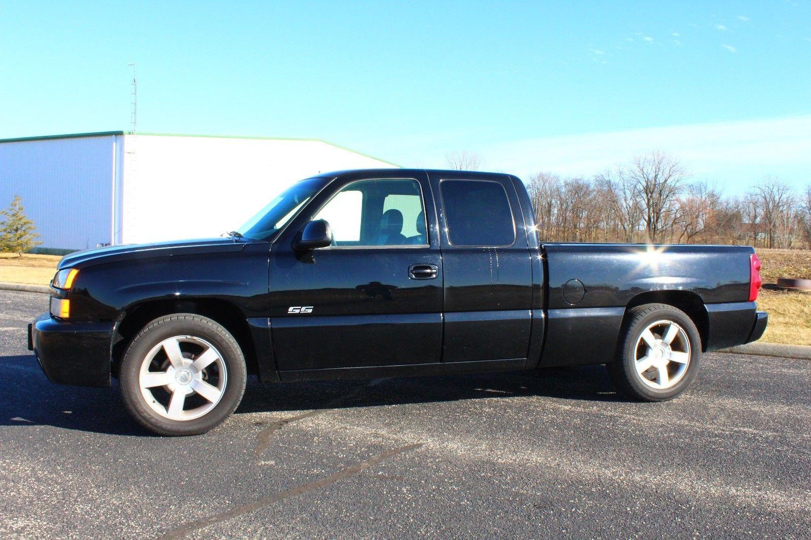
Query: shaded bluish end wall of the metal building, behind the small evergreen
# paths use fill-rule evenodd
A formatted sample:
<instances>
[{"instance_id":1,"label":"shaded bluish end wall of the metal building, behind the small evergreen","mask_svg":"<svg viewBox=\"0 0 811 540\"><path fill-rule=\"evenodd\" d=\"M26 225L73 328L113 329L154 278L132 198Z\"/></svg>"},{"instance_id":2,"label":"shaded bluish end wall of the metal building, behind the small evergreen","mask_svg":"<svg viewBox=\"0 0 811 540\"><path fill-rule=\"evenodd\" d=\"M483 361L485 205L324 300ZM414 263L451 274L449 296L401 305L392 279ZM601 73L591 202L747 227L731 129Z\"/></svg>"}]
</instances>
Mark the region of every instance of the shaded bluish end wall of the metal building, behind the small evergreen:
<instances>
[{"instance_id":1,"label":"shaded bluish end wall of the metal building, behind the small evergreen","mask_svg":"<svg viewBox=\"0 0 811 540\"><path fill-rule=\"evenodd\" d=\"M0 207L20 195L41 247L110 242L114 141L104 135L0 143Z\"/></svg>"}]
</instances>

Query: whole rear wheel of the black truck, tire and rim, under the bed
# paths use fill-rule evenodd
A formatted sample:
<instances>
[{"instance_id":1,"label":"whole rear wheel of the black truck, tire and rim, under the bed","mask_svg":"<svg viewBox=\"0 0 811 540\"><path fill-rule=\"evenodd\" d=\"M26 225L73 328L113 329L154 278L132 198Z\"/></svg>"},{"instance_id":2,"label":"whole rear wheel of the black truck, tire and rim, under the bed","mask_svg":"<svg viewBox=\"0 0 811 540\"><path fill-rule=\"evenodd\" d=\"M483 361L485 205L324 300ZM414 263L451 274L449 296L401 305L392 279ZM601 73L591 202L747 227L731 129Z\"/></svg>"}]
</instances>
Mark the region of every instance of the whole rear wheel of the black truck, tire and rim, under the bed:
<instances>
[{"instance_id":1,"label":"whole rear wheel of the black truck, tire and rim, under the bed","mask_svg":"<svg viewBox=\"0 0 811 540\"><path fill-rule=\"evenodd\" d=\"M646 304L629 313L620 355L607 365L616 388L642 401L667 401L693 383L702 360L702 341L684 311Z\"/></svg>"}]
</instances>

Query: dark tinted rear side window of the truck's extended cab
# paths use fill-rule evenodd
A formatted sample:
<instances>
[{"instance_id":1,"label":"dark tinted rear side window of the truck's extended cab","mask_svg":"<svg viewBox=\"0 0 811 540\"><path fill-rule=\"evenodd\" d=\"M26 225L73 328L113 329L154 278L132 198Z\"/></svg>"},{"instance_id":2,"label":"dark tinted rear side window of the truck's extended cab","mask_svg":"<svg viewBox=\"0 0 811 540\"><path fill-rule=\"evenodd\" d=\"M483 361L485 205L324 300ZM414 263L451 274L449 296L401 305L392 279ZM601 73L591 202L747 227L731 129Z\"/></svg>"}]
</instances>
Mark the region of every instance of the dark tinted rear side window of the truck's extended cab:
<instances>
[{"instance_id":1,"label":"dark tinted rear side window of the truck's extended cab","mask_svg":"<svg viewBox=\"0 0 811 540\"><path fill-rule=\"evenodd\" d=\"M513 245L513 212L500 183L443 180L440 189L454 246Z\"/></svg>"}]
</instances>

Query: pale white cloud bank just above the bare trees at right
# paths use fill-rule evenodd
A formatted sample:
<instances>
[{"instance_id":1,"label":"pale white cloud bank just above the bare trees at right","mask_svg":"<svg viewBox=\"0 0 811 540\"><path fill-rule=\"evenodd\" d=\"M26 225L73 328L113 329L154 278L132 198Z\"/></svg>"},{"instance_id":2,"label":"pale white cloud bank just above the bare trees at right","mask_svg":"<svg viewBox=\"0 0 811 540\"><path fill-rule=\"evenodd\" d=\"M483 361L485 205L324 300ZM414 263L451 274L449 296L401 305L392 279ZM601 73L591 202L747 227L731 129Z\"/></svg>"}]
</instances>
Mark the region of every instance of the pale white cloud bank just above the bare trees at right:
<instances>
[{"instance_id":1,"label":"pale white cloud bank just above the bare trees at right","mask_svg":"<svg viewBox=\"0 0 811 540\"><path fill-rule=\"evenodd\" d=\"M539 170L591 176L661 149L695 178L719 181L737 193L766 174L805 186L811 179L808 148L811 115L544 137L491 145L481 153L492 169L528 178Z\"/></svg>"}]
</instances>

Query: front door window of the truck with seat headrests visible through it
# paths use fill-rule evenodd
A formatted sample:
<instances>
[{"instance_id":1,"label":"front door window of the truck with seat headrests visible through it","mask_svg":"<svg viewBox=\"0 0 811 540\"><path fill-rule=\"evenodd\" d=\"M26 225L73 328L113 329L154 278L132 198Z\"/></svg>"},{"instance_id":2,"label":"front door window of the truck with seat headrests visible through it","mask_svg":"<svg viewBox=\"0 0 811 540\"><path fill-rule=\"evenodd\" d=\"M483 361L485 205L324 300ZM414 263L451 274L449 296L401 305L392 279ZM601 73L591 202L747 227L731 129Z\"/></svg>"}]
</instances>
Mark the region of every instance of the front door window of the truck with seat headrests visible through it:
<instances>
[{"instance_id":1,"label":"front door window of the truck with seat headrests visible through it","mask_svg":"<svg viewBox=\"0 0 811 540\"><path fill-rule=\"evenodd\" d=\"M345 186L313 219L328 221L336 246L427 245L423 195L415 180Z\"/></svg>"}]
</instances>

